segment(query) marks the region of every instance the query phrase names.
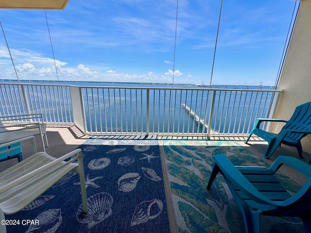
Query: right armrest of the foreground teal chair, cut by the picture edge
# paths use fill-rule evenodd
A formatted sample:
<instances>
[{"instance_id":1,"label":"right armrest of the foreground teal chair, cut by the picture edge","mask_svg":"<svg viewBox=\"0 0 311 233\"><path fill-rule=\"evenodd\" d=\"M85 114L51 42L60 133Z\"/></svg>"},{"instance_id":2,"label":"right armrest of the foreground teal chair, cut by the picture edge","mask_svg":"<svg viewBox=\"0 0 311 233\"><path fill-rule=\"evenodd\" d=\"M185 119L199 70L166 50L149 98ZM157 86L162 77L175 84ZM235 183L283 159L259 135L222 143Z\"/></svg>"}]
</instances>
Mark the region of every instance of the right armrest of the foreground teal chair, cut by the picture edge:
<instances>
[{"instance_id":1,"label":"right armrest of the foreground teal chair, cut by the picture edge","mask_svg":"<svg viewBox=\"0 0 311 233\"><path fill-rule=\"evenodd\" d=\"M283 164L293 167L307 177L311 177L311 166L291 156L279 155L269 169L275 173Z\"/></svg>"}]
</instances>

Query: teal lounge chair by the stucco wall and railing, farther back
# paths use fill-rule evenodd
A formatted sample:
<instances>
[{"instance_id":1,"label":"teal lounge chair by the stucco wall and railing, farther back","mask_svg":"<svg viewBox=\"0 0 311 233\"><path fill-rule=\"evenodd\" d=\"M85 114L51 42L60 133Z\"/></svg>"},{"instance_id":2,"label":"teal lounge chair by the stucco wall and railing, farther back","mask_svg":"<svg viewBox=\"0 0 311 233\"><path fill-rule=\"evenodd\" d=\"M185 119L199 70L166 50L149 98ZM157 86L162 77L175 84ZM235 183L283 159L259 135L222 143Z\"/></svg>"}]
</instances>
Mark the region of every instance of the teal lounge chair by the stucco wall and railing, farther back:
<instances>
[{"instance_id":1,"label":"teal lounge chair by the stucco wall and railing, farther back","mask_svg":"<svg viewBox=\"0 0 311 233\"><path fill-rule=\"evenodd\" d=\"M285 122L280 133L270 133L259 129L260 123L264 121ZM299 157L302 157L302 146L300 140L311 133L311 102L296 107L293 116L289 120L257 118L254 128L246 139L248 142L252 134L263 138L268 142L268 147L264 154L269 159L276 148L281 144L293 146L298 150Z\"/></svg>"}]
</instances>

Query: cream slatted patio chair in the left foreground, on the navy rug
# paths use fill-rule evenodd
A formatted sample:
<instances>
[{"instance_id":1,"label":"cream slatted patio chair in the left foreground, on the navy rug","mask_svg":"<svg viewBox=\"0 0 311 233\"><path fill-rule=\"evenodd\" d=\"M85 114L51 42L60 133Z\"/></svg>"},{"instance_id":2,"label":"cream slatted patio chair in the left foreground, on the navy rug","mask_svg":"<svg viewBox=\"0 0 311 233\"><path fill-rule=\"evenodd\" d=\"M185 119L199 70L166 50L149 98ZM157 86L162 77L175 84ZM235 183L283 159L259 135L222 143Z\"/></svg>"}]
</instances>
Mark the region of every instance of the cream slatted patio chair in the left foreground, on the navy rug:
<instances>
[{"instance_id":1,"label":"cream slatted patio chair in the left foreground, on the navy rug","mask_svg":"<svg viewBox=\"0 0 311 233\"><path fill-rule=\"evenodd\" d=\"M27 140L31 141L35 154L0 173L0 209L4 215L17 213L69 172L79 173L83 211L87 213L82 150L73 150L56 159L46 152L36 152L34 136L22 141ZM78 163L73 163L76 160Z\"/></svg>"}]
</instances>

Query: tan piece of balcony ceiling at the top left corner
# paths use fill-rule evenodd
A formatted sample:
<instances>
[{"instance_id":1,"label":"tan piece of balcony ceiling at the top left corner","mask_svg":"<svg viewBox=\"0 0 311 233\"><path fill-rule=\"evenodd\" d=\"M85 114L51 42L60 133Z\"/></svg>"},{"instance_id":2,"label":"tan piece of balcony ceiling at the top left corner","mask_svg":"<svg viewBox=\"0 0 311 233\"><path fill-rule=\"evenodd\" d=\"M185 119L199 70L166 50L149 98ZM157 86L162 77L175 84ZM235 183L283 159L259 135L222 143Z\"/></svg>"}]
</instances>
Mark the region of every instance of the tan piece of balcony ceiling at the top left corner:
<instances>
[{"instance_id":1,"label":"tan piece of balcony ceiling at the top left corner","mask_svg":"<svg viewBox=\"0 0 311 233\"><path fill-rule=\"evenodd\" d=\"M0 0L0 8L64 10L68 1L69 0Z\"/></svg>"}]
</instances>

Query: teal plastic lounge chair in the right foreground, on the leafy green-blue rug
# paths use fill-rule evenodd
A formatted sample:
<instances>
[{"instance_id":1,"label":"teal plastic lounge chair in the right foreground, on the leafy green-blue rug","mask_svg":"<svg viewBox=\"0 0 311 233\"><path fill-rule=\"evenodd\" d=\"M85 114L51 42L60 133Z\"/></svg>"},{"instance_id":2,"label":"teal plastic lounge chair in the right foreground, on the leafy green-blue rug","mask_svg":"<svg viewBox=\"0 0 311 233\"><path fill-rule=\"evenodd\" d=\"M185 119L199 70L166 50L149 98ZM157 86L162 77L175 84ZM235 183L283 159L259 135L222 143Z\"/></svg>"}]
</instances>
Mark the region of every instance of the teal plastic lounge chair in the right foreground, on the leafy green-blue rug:
<instances>
[{"instance_id":1,"label":"teal plastic lounge chair in the right foreground, on the leafy green-blue rug","mask_svg":"<svg viewBox=\"0 0 311 233\"><path fill-rule=\"evenodd\" d=\"M214 156L215 165L207 183L210 189L216 175L223 174L241 208L247 233L260 233L260 215L298 216L306 232L311 232L311 166L290 156L278 156L269 167L233 166L223 154ZM275 172L283 164L305 174L309 179L293 196L278 182Z\"/></svg>"}]
</instances>

